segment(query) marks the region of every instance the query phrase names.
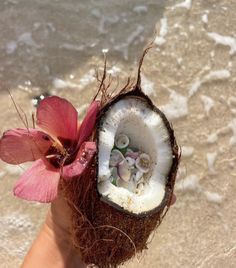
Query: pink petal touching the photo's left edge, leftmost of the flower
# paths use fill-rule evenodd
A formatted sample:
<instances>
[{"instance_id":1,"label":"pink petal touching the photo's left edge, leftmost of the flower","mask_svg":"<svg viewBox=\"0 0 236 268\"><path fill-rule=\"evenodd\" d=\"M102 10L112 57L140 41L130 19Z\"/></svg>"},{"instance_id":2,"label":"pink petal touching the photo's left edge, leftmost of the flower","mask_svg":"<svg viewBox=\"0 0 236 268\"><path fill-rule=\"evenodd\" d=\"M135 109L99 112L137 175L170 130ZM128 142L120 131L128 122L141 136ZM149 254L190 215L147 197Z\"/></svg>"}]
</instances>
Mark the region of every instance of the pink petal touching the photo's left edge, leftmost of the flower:
<instances>
[{"instance_id":1,"label":"pink petal touching the photo's left edge, leftmost of the flower","mask_svg":"<svg viewBox=\"0 0 236 268\"><path fill-rule=\"evenodd\" d=\"M11 129L0 140L0 158L9 164L21 164L44 156L52 141L36 129Z\"/></svg>"}]
</instances>

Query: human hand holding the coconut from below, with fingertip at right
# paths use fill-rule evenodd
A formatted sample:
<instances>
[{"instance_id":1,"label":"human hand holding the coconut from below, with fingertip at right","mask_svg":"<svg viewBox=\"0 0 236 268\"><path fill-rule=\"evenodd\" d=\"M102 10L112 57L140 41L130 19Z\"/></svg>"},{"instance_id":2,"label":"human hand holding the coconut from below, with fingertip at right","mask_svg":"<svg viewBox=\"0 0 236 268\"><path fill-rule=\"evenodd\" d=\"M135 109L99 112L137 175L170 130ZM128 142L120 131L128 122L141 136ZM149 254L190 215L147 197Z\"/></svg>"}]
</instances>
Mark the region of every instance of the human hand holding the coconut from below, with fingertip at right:
<instances>
[{"instance_id":1,"label":"human hand holding the coconut from below, with fingertip at right","mask_svg":"<svg viewBox=\"0 0 236 268\"><path fill-rule=\"evenodd\" d=\"M171 205L176 202L173 194ZM22 268L86 268L71 240L71 211L65 199L51 203L41 232L27 254Z\"/></svg>"}]
</instances>

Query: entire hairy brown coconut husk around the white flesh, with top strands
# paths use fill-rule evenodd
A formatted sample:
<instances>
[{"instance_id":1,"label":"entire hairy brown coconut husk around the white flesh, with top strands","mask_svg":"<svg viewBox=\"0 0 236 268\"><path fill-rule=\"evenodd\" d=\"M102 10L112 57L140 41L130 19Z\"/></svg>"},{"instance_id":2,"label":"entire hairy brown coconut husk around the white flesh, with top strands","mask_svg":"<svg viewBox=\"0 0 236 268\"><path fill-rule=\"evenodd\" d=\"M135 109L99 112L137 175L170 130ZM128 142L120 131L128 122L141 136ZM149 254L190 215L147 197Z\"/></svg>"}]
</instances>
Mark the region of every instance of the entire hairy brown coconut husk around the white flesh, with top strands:
<instances>
[{"instance_id":1,"label":"entire hairy brown coconut husk around the white flesh, with top strands","mask_svg":"<svg viewBox=\"0 0 236 268\"><path fill-rule=\"evenodd\" d=\"M148 49L144 51L143 57ZM146 249L148 238L161 223L171 204L173 195L179 162L178 146L172 127L164 114L141 91L140 68L143 57L140 61L136 85L130 88L128 83L115 97L104 96L106 90L103 83L106 76L103 74L99 88L103 91L103 108L97 120L93 140L98 140L101 119L112 104L129 96L144 99L162 117L170 134L174 156L162 203L147 214L133 215L115 204L109 203L109 200L105 200L97 190L98 155L95 155L91 165L82 176L70 182L63 182L65 197L72 210L74 247L86 264L94 264L99 268L115 268L132 258L136 253Z\"/></svg>"}]
</instances>

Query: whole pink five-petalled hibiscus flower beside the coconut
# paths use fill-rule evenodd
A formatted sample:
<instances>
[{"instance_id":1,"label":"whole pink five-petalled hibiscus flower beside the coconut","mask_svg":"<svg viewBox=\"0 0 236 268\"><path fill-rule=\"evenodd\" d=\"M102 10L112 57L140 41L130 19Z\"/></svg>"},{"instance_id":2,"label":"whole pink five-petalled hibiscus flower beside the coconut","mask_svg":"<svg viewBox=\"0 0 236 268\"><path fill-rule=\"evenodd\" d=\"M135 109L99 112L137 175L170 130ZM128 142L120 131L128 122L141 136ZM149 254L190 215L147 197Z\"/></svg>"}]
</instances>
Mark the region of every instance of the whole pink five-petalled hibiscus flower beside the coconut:
<instances>
[{"instance_id":1,"label":"whole pink five-petalled hibiscus flower beside the coconut","mask_svg":"<svg viewBox=\"0 0 236 268\"><path fill-rule=\"evenodd\" d=\"M14 187L20 198L51 202L57 197L60 177L80 176L96 152L88 141L100 103L94 101L79 126L76 109L67 100L51 96L37 108L37 126L6 131L0 139L0 159L13 165L35 161Z\"/></svg>"}]
</instances>

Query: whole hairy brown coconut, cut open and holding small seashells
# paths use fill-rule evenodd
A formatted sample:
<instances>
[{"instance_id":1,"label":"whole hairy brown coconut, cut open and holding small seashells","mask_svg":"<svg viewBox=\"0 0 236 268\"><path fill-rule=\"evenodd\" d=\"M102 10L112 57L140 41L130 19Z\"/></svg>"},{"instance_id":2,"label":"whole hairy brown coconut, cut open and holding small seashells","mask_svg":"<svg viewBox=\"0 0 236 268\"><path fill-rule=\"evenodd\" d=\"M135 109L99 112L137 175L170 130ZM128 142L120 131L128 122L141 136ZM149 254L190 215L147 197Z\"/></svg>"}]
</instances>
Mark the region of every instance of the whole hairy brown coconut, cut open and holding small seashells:
<instances>
[{"instance_id":1,"label":"whole hairy brown coconut, cut open and holding small seashells","mask_svg":"<svg viewBox=\"0 0 236 268\"><path fill-rule=\"evenodd\" d=\"M117 267L147 248L169 208L178 146L165 115L142 92L140 73L136 85L102 106L93 139L91 166L64 187L73 241L85 263Z\"/></svg>"}]
</instances>

